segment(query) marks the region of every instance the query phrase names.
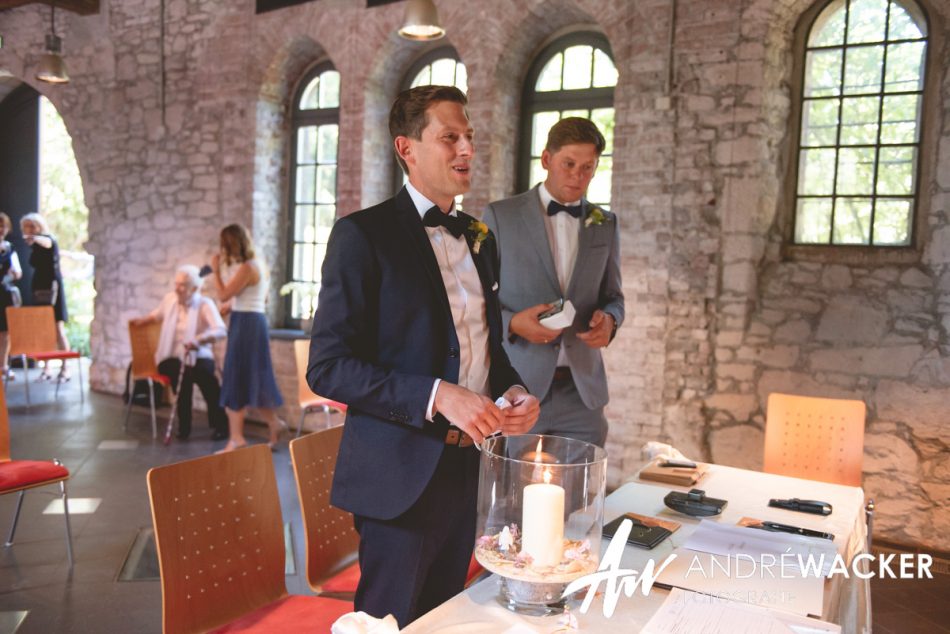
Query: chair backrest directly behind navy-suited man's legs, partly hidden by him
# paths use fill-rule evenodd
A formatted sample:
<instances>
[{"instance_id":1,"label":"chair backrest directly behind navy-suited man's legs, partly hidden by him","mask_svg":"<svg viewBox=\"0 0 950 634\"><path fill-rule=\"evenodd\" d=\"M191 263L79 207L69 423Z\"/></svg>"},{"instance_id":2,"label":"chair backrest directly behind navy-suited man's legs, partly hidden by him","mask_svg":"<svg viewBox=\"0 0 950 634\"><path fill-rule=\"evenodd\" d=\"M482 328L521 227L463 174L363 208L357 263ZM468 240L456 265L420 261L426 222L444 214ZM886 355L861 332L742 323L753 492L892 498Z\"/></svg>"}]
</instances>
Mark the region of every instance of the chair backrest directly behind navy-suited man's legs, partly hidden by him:
<instances>
[{"instance_id":1,"label":"chair backrest directly behind navy-suited man's legs, partly hidden by him","mask_svg":"<svg viewBox=\"0 0 950 634\"><path fill-rule=\"evenodd\" d=\"M338 425L290 443L307 535L307 581L314 590L321 581L356 559L360 543L353 516L330 506L330 487L342 436L343 426Z\"/></svg>"}]
</instances>

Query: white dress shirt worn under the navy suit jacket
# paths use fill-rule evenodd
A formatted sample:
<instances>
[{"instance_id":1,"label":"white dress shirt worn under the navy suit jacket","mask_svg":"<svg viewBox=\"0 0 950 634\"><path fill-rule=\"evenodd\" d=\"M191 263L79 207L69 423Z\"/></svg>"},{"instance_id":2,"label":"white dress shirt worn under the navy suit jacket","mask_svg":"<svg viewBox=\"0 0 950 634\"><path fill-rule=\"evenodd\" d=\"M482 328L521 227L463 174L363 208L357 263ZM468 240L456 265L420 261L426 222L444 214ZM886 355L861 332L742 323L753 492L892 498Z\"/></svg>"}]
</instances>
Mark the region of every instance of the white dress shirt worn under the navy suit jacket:
<instances>
[{"instance_id":1,"label":"white dress shirt worn under the navy suit jacket","mask_svg":"<svg viewBox=\"0 0 950 634\"><path fill-rule=\"evenodd\" d=\"M412 198L419 217L435 206L435 203L419 193L411 183L406 190ZM453 209L452 216L458 213ZM475 261L469 251L465 236L454 237L445 227L426 227L429 243L439 263L439 272L449 298L452 321L459 340L458 384L472 392L488 396L488 321L485 316L485 295ZM426 418L432 419L435 393L441 379L436 379L429 395Z\"/></svg>"}]
</instances>

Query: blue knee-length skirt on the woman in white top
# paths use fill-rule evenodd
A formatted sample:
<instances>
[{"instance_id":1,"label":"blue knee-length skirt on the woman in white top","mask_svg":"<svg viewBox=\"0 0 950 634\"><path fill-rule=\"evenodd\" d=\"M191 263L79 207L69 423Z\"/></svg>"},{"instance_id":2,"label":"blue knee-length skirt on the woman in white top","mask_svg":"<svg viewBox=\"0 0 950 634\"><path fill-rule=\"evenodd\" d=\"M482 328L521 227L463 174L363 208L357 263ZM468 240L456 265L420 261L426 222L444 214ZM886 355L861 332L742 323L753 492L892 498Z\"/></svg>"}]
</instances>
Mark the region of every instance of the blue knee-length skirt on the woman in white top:
<instances>
[{"instance_id":1,"label":"blue knee-length skirt on the woman in white top","mask_svg":"<svg viewBox=\"0 0 950 634\"><path fill-rule=\"evenodd\" d=\"M240 410L248 406L276 408L283 403L270 358L267 318L264 313L232 312L221 406Z\"/></svg>"}]
</instances>

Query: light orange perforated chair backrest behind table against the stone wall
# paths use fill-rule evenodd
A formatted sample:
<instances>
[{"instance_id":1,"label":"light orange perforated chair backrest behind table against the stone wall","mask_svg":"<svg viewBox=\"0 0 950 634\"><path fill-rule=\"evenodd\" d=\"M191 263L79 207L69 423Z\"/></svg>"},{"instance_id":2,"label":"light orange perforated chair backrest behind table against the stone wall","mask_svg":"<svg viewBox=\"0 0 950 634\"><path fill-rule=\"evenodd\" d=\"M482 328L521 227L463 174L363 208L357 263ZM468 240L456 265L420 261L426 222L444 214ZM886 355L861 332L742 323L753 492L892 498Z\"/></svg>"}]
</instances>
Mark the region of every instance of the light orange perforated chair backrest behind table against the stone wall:
<instances>
[{"instance_id":1,"label":"light orange perforated chair backrest behind table against the stone wall","mask_svg":"<svg viewBox=\"0 0 950 634\"><path fill-rule=\"evenodd\" d=\"M866 411L862 401L770 394L763 470L861 486Z\"/></svg>"}]
</instances>

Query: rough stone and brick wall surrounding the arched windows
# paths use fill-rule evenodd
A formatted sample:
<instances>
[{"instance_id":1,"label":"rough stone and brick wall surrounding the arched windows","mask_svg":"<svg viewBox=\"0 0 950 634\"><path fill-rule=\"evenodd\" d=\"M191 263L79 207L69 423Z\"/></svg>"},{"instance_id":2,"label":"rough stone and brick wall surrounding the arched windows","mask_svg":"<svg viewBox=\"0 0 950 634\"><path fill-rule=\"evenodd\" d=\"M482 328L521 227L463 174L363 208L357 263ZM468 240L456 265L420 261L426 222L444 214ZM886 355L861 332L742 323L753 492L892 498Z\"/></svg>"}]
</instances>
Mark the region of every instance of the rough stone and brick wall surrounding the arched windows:
<instances>
[{"instance_id":1,"label":"rough stone and brick wall surrounding the arched windows","mask_svg":"<svg viewBox=\"0 0 950 634\"><path fill-rule=\"evenodd\" d=\"M342 75L340 212L388 195L388 105L429 47L395 36L401 4L362 4L321 0L256 16L250 0L168 0L164 58L153 2L61 12L72 77L61 87L32 79L47 9L0 13L0 71L47 95L73 137L96 256L95 389L121 389L125 321L158 301L177 264L206 262L222 225L249 224L282 278L288 100L313 63L330 59ZM537 51L573 29L611 42L628 317L607 352L610 484L635 472L652 439L758 468L772 391L860 398L878 533L941 546L929 527L950 528L946 3L924 2L933 90L919 240L896 259L783 244L793 40L811 2L678 0L675 15L671 0L438 4L469 74L473 210L513 193L521 82ZM290 346L273 348L293 402Z\"/></svg>"}]
</instances>

